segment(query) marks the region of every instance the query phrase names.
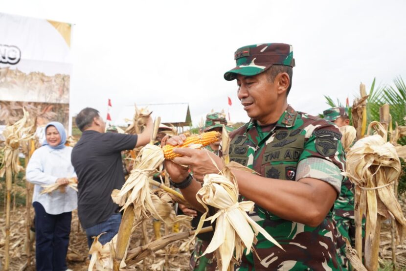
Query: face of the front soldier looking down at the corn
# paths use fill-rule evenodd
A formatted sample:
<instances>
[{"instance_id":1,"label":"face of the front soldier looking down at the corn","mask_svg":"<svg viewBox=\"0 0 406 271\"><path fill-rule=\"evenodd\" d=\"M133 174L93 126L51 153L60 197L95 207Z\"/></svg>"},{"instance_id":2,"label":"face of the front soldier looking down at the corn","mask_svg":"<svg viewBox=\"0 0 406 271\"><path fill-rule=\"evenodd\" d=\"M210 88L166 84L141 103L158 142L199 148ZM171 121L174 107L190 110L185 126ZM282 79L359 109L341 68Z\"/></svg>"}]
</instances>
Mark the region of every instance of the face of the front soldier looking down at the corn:
<instances>
[{"instance_id":1,"label":"face of the front soldier looking down at the corn","mask_svg":"<svg viewBox=\"0 0 406 271\"><path fill-rule=\"evenodd\" d=\"M270 83L265 72L254 76L237 75L238 99L248 116L259 124L268 124L278 94L276 85Z\"/></svg>"}]
</instances>

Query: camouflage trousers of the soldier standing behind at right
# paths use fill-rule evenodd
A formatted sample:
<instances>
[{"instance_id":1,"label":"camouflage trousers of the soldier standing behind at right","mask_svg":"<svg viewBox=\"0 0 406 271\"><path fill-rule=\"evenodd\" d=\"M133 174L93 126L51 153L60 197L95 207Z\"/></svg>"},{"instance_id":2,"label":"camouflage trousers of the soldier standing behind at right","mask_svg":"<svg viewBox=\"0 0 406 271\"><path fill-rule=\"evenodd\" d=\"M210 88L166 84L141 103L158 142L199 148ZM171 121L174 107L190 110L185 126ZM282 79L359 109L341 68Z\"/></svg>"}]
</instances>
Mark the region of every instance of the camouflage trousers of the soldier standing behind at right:
<instances>
[{"instance_id":1,"label":"camouflage trousers of the soldier standing behind at right","mask_svg":"<svg viewBox=\"0 0 406 271\"><path fill-rule=\"evenodd\" d=\"M334 237L337 242L338 260L343 271L350 270L350 263L346 256L346 239L352 247L355 246L355 221L353 218L334 216Z\"/></svg>"}]
</instances>

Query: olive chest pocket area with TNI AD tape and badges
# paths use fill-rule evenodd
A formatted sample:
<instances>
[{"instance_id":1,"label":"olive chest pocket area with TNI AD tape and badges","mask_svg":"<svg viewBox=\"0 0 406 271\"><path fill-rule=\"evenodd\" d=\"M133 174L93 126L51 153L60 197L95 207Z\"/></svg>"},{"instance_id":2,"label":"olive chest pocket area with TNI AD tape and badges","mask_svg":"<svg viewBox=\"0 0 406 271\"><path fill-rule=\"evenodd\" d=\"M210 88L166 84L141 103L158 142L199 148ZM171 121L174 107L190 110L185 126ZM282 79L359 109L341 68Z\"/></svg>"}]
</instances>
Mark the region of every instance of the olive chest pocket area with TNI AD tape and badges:
<instances>
[{"instance_id":1,"label":"olive chest pocket area with TNI AD tape and badges","mask_svg":"<svg viewBox=\"0 0 406 271\"><path fill-rule=\"evenodd\" d=\"M265 147L261 174L264 177L294 181L297 162L303 152L304 135L300 131L277 131Z\"/></svg>"}]
</instances>

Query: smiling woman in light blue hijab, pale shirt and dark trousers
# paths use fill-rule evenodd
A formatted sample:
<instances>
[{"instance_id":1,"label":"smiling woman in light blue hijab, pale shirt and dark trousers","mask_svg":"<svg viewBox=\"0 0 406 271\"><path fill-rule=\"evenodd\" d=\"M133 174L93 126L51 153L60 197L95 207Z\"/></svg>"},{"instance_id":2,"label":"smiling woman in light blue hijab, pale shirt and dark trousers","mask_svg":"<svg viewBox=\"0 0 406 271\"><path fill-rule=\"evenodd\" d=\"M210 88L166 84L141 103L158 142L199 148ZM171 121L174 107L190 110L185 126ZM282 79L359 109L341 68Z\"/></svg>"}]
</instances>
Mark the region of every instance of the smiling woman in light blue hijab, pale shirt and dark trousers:
<instances>
[{"instance_id":1,"label":"smiling woman in light blue hijab, pale shirt and dark trousers","mask_svg":"<svg viewBox=\"0 0 406 271\"><path fill-rule=\"evenodd\" d=\"M38 271L66 271L70 221L77 208L77 193L68 187L76 178L70 162L72 147L65 146L64 126L56 121L45 126L45 142L28 162L26 179L35 184L32 205L35 209L36 264ZM59 183L57 189L41 194L43 185Z\"/></svg>"}]
</instances>

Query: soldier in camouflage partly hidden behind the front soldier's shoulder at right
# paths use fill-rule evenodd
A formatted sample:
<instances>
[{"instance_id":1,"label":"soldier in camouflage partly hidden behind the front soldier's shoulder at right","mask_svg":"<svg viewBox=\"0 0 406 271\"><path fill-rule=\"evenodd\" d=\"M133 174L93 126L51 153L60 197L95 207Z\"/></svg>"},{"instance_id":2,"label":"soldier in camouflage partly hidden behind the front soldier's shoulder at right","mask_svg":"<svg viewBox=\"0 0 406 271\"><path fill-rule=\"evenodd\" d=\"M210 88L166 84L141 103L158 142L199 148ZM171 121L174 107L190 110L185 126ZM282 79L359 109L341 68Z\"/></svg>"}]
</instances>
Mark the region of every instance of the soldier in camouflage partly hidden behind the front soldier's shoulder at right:
<instances>
[{"instance_id":1,"label":"soldier in camouflage partly hidden behind the front soldier's shoulder at right","mask_svg":"<svg viewBox=\"0 0 406 271\"><path fill-rule=\"evenodd\" d=\"M348 109L345 107L327 109L323 115L325 120L333 122L338 127L350 124ZM342 269L348 270L349 262L345 256L346 242L344 238L350 241L352 247L355 246L354 188L348 178L344 178L340 195L334 203L333 224Z\"/></svg>"}]
</instances>

